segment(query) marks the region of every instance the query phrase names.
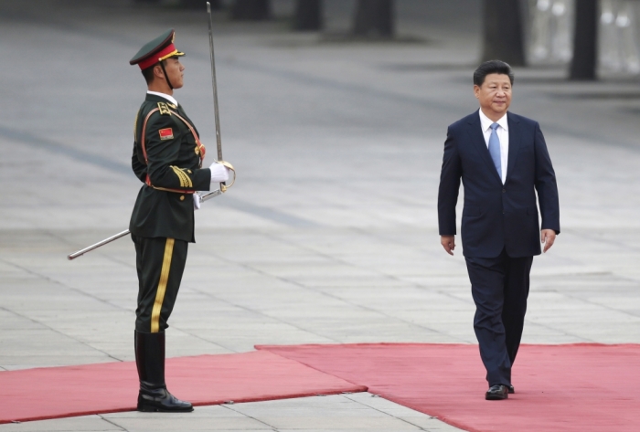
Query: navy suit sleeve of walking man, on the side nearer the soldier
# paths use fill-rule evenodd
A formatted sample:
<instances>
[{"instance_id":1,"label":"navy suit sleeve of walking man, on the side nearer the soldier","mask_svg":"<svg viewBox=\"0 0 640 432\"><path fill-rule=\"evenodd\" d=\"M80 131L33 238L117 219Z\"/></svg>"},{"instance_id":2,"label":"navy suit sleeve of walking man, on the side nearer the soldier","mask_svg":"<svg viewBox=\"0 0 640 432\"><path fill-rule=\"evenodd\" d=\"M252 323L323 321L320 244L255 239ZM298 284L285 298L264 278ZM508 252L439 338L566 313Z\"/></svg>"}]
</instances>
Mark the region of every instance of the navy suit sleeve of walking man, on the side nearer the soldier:
<instances>
[{"instance_id":1,"label":"navy suit sleeve of walking man, on the side nearer the soldier","mask_svg":"<svg viewBox=\"0 0 640 432\"><path fill-rule=\"evenodd\" d=\"M457 234L455 205L458 202L462 173L462 163L458 155L457 143L451 128L449 128L447 130L447 139L444 142L443 167L440 172L440 187L438 189L438 227L441 236L454 236Z\"/></svg>"}]
</instances>

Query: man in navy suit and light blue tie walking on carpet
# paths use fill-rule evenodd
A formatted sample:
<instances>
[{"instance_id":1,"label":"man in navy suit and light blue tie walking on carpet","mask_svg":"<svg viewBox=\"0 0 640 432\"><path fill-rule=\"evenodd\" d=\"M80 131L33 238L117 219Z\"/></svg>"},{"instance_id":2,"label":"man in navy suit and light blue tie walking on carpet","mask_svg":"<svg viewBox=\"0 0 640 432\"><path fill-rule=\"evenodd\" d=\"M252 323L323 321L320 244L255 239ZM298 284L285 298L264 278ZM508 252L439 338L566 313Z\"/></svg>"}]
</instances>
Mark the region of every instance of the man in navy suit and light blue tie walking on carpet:
<instances>
[{"instance_id":1,"label":"man in navy suit and light blue tie walking on carpet","mask_svg":"<svg viewBox=\"0 0 640 432\"><path fill-rule=\"evenodd\" d=\"M522 336L533 256L540 254L540 242L546 252L560 234L556 175L539 124L507 111L513 81L502 61L487 61L475 70L480 110L449 126L438 193L441 243L453 255L462 179L463 252L487 400L514 393L511 367Z\"/></svg>"}]
</instances>

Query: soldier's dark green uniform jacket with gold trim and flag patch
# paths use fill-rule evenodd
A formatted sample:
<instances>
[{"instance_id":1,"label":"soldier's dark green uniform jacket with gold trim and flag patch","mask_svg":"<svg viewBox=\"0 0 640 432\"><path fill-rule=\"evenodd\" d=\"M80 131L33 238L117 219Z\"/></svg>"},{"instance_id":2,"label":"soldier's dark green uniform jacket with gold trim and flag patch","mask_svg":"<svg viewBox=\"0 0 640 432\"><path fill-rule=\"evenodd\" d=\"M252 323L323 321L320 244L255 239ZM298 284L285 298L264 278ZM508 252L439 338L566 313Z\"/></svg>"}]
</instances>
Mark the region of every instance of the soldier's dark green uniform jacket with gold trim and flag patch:
<instances>
[{"instance_id":1,"label":"soldier's dark green uniform jacket with gold trim and flag patch","mask_svg":"<svg viewBox=\"0 0 640 432\"><path fill-rule=\"evenodd\" d=\"M147 119L149 112L156 109ZM178 116L189 123L193 132ZM194 132L197 135L181 106L160 96L146 95L134 127L132 168L144 185L129 224L133 235L195 242L191 194L209 190L211 172L200 168L203 149Z\"/></svg>"}]
</instances>

